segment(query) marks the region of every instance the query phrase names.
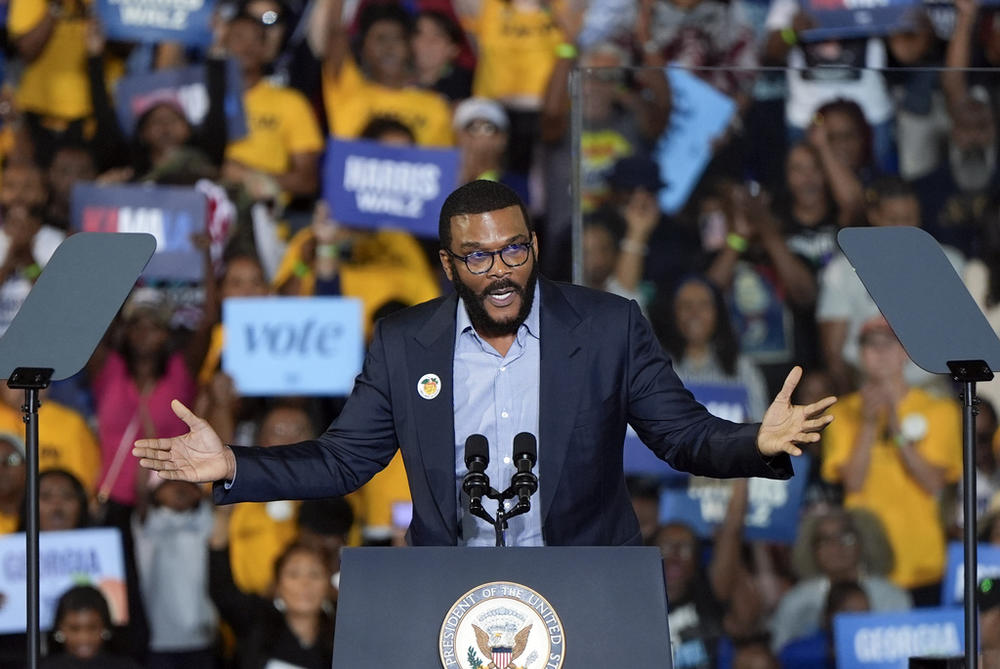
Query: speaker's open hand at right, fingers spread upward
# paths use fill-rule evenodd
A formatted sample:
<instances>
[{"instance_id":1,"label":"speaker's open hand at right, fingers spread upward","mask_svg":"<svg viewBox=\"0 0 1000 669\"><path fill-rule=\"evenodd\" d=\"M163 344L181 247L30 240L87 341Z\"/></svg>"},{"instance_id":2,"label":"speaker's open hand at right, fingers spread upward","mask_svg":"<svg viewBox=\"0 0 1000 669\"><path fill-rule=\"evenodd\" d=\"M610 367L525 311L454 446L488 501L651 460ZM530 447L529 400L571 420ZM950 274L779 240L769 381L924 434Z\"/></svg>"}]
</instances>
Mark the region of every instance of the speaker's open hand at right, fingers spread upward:
<instances>
[{"instance_id":1,"label":"speaker's open hand at right, fingers spread upward","mask_svg":"<svg viewBox=\"0 0 1000 669\"><path fill-rule=\"evenodd\" d=\"M757 433L757 450L761 455L802 455L798 444L819 441L820 430L833 420L833 416L824 412L833 406L837 401L836 397L824 397L806 406L792 404L792 393L801 378L802 368L792 368L781 392L764 413L764 420Z\"/></svg>"}]
</instances>

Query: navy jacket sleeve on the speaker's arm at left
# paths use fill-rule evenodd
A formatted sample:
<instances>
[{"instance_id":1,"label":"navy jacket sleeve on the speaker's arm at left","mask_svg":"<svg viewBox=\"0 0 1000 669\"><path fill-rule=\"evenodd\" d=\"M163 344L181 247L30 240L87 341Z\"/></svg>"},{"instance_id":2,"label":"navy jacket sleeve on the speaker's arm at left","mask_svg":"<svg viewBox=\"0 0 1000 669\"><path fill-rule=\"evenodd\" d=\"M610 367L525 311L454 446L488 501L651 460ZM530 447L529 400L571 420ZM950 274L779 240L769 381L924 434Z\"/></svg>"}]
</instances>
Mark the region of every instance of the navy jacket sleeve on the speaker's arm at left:
<instances>
[{"instance_id":1,"label":"navy jacket sleeve on the speaker's arm at left","mask_svg":"<svg viewBox=\"0 0 1000 669\"><path fill-rule=\"evenodd\" d=\"M381 324L340 416L318 439L270 448L233 447L236 479L217 482L216 503L346 495L384 469L399 448Z\"/></svg>"}]
</instances>

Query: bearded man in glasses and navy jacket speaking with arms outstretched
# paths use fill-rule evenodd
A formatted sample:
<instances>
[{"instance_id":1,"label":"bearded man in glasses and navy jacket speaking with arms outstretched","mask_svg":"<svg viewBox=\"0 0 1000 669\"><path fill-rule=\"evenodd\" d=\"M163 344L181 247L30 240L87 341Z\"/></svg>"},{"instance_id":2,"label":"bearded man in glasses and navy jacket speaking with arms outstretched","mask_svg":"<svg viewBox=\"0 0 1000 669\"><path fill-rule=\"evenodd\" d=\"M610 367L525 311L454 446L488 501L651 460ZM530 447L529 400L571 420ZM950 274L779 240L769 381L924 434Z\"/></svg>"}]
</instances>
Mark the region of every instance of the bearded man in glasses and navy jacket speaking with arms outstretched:
<instances>
[{"instance_id":1,"label":"bearded man in glasses and navy jacket speaking with arms outstretched","mask_svg":"<svg viewBox=\"0 0 1000 669\"><path fill-rule=\"evenodd\" d=\"M510 189L474 181L440 216L455 294L379 322L340 416L318 439L224 445L175 400L190 432L137 441L163 478L216 482L216 502L331 497L363 485L401 449L417 546L493 545L468 513L466 438L489 444L493 481L515 471L514 436L537 435L538 503L508 545L639 544L622 468L626 424L674 468L702 476L792 475L788 455L819 440L835 399L791 403L795 368L760 425L715 418L684 389L635 302L538 275L538 240Z\"/></svg>"}]
</instances>

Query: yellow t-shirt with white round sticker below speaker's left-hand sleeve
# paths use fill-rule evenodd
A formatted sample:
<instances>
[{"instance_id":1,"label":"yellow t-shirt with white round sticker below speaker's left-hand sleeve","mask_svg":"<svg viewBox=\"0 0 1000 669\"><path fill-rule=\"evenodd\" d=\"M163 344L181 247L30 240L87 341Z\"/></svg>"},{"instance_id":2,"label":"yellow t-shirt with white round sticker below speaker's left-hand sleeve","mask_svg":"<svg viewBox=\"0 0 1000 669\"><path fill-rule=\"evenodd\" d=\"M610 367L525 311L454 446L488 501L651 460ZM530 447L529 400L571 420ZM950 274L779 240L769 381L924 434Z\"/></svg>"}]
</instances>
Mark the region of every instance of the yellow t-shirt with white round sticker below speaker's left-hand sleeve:
<instances>
[{"instance_id":1,"label":"yellow t-shirt with white round sticker below speaker's left-hand sleeve","mask_svg":"<svg viewBox=\"0 0 1000 669\"><path fill-rule=\"evenodd\" d=\"M236 505L229 520L229 564L236 587L247 593L270 594L274 562L298 536L298 510L298 502Z\"/></svg>"}]
</instances>

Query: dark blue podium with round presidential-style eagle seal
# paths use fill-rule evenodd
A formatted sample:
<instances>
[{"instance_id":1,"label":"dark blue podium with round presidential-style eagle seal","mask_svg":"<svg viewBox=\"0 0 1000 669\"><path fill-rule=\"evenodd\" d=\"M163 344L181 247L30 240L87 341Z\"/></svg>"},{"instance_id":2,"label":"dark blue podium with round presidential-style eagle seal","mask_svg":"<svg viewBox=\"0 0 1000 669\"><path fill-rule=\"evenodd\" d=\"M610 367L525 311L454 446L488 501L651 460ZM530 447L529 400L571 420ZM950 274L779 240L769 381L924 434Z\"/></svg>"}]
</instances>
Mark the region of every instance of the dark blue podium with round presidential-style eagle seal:
<instances>
[{"instance_id":1,"label":"dark blue podium with round presidential-style eagle seal","mask_svg":"<svg viewBox=\"0 0 1000 669\"><path fill-rule=\"evenodd\" d=\"M473 624L479 631L468 631ZM532 654L532 669L669 669L659 550L344 550L334 669L471 669L476 662L486 669L491 661L503 669L504 662L524 666Z\"/></svg>"}]
</instances>

